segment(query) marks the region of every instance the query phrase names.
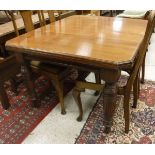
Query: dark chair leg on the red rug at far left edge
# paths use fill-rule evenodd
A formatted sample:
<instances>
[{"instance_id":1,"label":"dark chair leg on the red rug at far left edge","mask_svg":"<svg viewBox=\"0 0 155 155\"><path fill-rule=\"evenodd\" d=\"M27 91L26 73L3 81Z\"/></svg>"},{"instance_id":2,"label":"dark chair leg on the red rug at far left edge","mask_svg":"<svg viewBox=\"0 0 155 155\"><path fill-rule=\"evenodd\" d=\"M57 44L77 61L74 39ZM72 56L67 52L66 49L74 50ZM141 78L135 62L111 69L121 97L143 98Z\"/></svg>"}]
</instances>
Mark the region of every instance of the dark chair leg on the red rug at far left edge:
<instances>
[{"instance_id":1,"label":"dark chair leg on the red rug at far left edge","mask_svg":"<svg viewBox=\"0 0 155 155\"><path fill-rule=\"evenodd\" d=\"M5 110L7 110L10 107L9 99L2 82L0 82L0 101L2 103L2 107Z\"/></svg>"}]
</instances>

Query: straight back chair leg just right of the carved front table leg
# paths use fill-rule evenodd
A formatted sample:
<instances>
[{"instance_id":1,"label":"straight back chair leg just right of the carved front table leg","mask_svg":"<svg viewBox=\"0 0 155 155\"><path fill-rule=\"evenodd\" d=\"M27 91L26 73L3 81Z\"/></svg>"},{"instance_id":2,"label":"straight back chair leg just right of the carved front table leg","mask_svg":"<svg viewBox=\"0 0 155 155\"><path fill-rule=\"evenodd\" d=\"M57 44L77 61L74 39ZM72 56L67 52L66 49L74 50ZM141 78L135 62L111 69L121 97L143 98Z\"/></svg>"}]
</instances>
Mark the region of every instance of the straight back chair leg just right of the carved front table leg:
<instances>
[{"instance_id":1,"label":"straight back chair leg just right of the carved front table leg","mask_svg":"<svg viewBox=\"0 0 155 155\"><path fill-rule=\"evenodd\" d=\"M129 91L127 91L124 95L124 118L125 118L125 133L129 132L130 125L130 95Z\"/></svg>"}]
</instances>

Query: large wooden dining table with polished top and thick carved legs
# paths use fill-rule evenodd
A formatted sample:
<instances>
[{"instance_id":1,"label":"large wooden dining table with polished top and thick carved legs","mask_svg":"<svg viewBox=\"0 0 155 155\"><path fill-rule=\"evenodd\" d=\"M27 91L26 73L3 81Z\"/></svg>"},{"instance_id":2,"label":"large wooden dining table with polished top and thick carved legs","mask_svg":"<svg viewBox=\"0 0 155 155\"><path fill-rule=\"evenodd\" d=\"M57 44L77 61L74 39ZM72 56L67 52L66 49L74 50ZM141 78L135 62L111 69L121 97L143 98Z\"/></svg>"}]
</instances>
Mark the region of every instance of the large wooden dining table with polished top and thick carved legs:
<instances>
[{"instance_id":1,"label":"large wooden dining table with polished top and thick carved legs","mask_svg":"<svg viewBox=\"0 0 155 155\"><path fill-rule=\"evenodd\" d=\"M6 49L23 65L36 59L97 69L105 81L103 125L109 133L121 70L134 65L146 26L146 20L74 15L9 40Z\"/></svg>"}]
</instances>

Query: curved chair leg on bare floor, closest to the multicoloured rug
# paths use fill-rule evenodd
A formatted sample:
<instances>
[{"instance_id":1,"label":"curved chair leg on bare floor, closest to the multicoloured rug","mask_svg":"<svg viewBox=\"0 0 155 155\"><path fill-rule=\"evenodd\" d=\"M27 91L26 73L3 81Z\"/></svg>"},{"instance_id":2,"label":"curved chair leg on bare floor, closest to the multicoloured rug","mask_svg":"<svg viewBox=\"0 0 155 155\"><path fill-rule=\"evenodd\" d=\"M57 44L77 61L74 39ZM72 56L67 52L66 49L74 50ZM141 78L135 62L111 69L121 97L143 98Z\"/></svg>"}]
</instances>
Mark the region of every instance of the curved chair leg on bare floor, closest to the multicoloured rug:
<instances>
[{"instance_id":1,"label":"curved chair leg on bare floor, closest to the multicoloured rug","mask_svg":"<svg viewBox=\"0 0 155 155\"><path fill-rule=\"evenodd\" d=\"M76 88L73 89L73 97L79 108L79 116L77 117L78 122L82 121L82 117L83 117L83 108L82 108L80 93L81 92L78 89Z\"/></svg>"}]
</instances>

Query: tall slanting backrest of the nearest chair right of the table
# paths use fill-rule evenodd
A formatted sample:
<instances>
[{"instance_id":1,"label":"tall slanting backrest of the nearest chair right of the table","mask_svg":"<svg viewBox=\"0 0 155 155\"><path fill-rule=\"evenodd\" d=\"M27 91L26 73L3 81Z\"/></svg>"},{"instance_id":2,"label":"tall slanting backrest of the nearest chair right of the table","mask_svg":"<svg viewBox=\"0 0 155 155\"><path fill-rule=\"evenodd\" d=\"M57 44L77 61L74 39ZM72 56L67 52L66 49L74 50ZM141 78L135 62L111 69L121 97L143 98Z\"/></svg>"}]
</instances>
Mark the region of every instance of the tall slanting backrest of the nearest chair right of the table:
<instances>
[{"instance_id":1,"label":"tall slanting backrest of the nearest chair right of the table","mask_svg":"<svg viewBox=\"0 0 155 155\"><path fill-rule=\"evenodd\" d=\"M151 11L149 16L148 16L148 24L147 24L146 32L144 35L144 39L143 39L143 42L140 46L139 54L138 54L138 57L135 61L135 65L134 65L133 70L131 72L131 76L128 79L128 83L133 83L135 77L137 76L138 70L140 69L140 67L143 63L143 60L145 58L146 51L148 48L148 44L149 44L149 41L151 38L151 34L152 34L152 31L154 28L154 24L155 24L155 11Z\"/></svg>"}]
</instances>

